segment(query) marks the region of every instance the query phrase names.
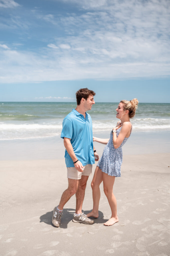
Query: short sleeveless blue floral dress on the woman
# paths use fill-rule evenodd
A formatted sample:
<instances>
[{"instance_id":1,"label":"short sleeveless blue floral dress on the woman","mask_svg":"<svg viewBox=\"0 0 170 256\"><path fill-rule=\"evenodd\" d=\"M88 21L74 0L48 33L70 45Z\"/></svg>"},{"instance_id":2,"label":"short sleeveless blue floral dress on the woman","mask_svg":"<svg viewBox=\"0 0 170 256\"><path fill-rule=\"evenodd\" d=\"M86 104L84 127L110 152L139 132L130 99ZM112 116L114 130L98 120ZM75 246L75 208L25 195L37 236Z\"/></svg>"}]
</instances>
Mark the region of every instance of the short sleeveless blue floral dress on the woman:
<instances>
[{"instance_id":1,"label":"short sleeveless blue floral dress on the woman","mask_svg":"<svg viewBox=\"0 0 170 256\"><path fill-rule=\"evenodd\" d=\"M122 126L116 130L116 136L118 137ZM132 124L131 131L132 132ZM129 135L130 137L130 135ZM128 137L128 138L129 138ZM122 165L122 146L128 140L128 138L124 138L121 145L118 148L114 148L113 146L113 135L112 131L110 132L110 139L104 148L103 155L100 157L97 166L102 170L102 172L107 173L110 176L121 177L120 175L120 167Z\"/></svg>"}]
</instances>

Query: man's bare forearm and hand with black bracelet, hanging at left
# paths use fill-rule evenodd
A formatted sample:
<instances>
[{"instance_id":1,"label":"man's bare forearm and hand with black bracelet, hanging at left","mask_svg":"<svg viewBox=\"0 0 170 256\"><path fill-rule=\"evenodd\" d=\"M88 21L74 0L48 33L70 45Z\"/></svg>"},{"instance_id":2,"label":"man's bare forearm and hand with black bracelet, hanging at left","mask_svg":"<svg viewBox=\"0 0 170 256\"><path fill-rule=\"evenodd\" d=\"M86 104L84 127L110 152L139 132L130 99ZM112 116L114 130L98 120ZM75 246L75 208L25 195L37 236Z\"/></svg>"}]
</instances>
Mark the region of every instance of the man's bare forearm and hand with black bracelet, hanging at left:
<instances>
[{"instance_id":1,"label":"man's bare forearm and hand with black bracelet, hanging at left","mask_svg":"<svg viewBox=\"0 0 170 256\"><path fill-rule=\"evenodd\" d=\"M71 145L71 142L70 142L70 138L66 138L64 137L64 146L66 148L66 151L69 153L71 159L73 160L73 163L76 162L78 159L74 153L74 150L73 150L73 147ZM78 172L83 172L83 169L84 169L84 166L82 165L82 163L78 160L78 162L76 162L74 164L74 167L76 168L76 170Z\"/></svg>"}]
</instances>

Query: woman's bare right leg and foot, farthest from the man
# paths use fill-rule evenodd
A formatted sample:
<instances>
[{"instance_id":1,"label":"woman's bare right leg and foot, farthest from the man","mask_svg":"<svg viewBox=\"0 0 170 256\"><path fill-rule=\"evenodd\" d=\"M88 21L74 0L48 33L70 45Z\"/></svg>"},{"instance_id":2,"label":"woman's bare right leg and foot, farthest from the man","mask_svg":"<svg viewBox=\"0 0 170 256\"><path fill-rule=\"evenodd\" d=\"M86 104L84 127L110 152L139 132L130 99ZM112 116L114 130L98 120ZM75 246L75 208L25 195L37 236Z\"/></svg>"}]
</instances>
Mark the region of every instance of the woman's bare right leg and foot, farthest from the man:
<instances>
[{"instance_id":1,"label":"woman's bare right leg and foot, farthest from the man","mask_svg":"<svg viewBox=\"0 0 170 256\"><path fill-rule=\"evenodd\" d=\"M113 194L114 182L115 182L114 176L109 176L108 174L103 173L103 188L111 208L111 218L104 223L105 226L111 226L119 221L117 216L116 197Z\"/></svg>"}]
</instances>

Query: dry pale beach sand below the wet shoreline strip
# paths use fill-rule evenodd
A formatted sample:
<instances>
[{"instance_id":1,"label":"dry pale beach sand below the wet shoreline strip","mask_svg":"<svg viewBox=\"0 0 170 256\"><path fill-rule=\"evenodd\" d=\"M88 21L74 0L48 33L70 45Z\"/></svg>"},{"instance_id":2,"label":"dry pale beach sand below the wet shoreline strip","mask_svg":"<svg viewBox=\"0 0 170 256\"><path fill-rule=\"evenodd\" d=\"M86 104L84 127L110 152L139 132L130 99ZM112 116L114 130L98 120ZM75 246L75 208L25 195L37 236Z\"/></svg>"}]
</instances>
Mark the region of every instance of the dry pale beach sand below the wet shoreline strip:
<instances>
[{"instance_id":1,"label":"dry pale beach sand below the wet shoreline strip","mask_svg":"<svg viewBox=\"0 0 170 256\"><path fill-rule=\"evenodd\" d=\"M56 228L53 208L67 188L64 159L0 161L0 256L170 255L169 165L169 153L125 155L113 189L119 222L103 225L111 212L101 184L93 225L72 221L73 196ZM86 214L93 206L92 178L83 202Z\"/></svg>"}]
</instances>

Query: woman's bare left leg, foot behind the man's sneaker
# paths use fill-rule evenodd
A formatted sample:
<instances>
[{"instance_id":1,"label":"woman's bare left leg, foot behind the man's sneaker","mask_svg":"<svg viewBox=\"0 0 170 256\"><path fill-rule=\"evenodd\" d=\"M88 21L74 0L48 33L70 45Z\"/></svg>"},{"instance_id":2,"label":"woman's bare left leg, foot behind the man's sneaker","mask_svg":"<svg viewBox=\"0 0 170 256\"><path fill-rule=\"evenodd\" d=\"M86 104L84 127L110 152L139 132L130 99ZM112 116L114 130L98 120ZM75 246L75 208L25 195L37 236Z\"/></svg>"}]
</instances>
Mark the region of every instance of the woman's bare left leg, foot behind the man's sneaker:
<instances>
[{"instance_id":1,"label":"woman's bare left leg, foot behind the man's sneaker","mask_svg":"<svg viewBox=\"0 0 170 256\"><path fill-rule=\"evenodd\" d=\"M93 180L91 183L93 191L93 210L87 214L87 217L99 217L99 201L100 201L100 183L103 180L103 174L101 169L97 166L94 172Z\"/></svg>"}]
</instances>

